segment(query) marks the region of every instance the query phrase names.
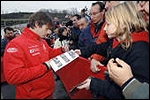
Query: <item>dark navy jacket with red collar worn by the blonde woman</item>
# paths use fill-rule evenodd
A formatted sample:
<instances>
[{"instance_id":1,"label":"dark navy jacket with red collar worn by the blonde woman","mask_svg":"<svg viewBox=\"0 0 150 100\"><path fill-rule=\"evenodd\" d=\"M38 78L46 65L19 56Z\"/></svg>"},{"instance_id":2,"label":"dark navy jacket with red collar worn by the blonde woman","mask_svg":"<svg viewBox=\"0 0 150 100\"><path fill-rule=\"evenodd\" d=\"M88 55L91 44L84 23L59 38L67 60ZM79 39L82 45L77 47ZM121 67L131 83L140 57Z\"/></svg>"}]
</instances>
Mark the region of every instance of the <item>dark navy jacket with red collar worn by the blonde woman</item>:
<instances>
[{"instance_id":1,"label":"dark navy jacket with red collar worn by the blonde woman","mask_svg":"<svg viewBox=\"0 0 150 100\"><path fill-rule=\"evenodd\" d=\"M132 46L124 50L119 42L109 40L108 42L93 45L86 49L82 49L82 56L88 57L93 53L98 53L106 57L103 64L107 65L109 59L120 58L127 62L132 69L133 75L140 82L149 83L149 36L146 32L134 33L132 35ZM119 88L110 80L98 80L93 78L90 84L92 93L109 99L124 98Z\"/></svg>"}]
</instances>

